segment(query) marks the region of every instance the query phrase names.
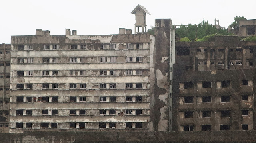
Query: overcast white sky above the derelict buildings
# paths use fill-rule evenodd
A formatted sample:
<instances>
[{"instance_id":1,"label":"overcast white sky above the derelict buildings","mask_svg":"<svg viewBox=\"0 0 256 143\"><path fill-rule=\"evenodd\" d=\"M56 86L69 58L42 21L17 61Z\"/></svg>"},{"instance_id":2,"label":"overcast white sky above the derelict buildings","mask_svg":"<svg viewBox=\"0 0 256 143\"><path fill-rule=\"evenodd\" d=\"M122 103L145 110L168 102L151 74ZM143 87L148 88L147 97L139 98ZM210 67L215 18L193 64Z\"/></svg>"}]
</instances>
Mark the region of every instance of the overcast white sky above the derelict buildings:
<instances>
[{"instance_id":1,"label":"overcast white sky above the derelict buildings","mask_svg":"<svg viewBox=\"0 0 256 143\"><path fill-rule=\"evenodd\" d=\"M228 27L235 16L256 19L256 0L0 0L0 43L11 35L35 35L36 29L50 35L65 35L65 28L78 35L118 34L118 28L132 29L132 10L144 6L148 29L156 18L171 18L174 25L198 24L203 19Z\"/></svg>"}]
</instances>

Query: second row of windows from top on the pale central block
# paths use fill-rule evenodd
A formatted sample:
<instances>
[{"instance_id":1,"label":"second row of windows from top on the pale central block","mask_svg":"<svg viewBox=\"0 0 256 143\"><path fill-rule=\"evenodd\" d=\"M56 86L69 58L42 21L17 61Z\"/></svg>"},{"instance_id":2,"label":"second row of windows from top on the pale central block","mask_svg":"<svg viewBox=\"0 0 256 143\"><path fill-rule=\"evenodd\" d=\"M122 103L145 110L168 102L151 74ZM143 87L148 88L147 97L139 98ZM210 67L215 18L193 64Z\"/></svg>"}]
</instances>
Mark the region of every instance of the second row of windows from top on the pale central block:
<instances>
[{"instance_id":1,"label":"second row of windows from top on the pale central block","mask_svg":"<svg viewBox=\"0 0 256 143\"><path fill-rule=\"evenodd\" d=\"M83 63L85 57L70 57L70 63ZM143 57L126 57L126 62L142 62ZM59 58L42 58L43 63L58 63ZM33 58L18 58L17 63L33 63ZM100 57L100 63L116 63L116 57Z\"/></svg>"}]
</instances>

